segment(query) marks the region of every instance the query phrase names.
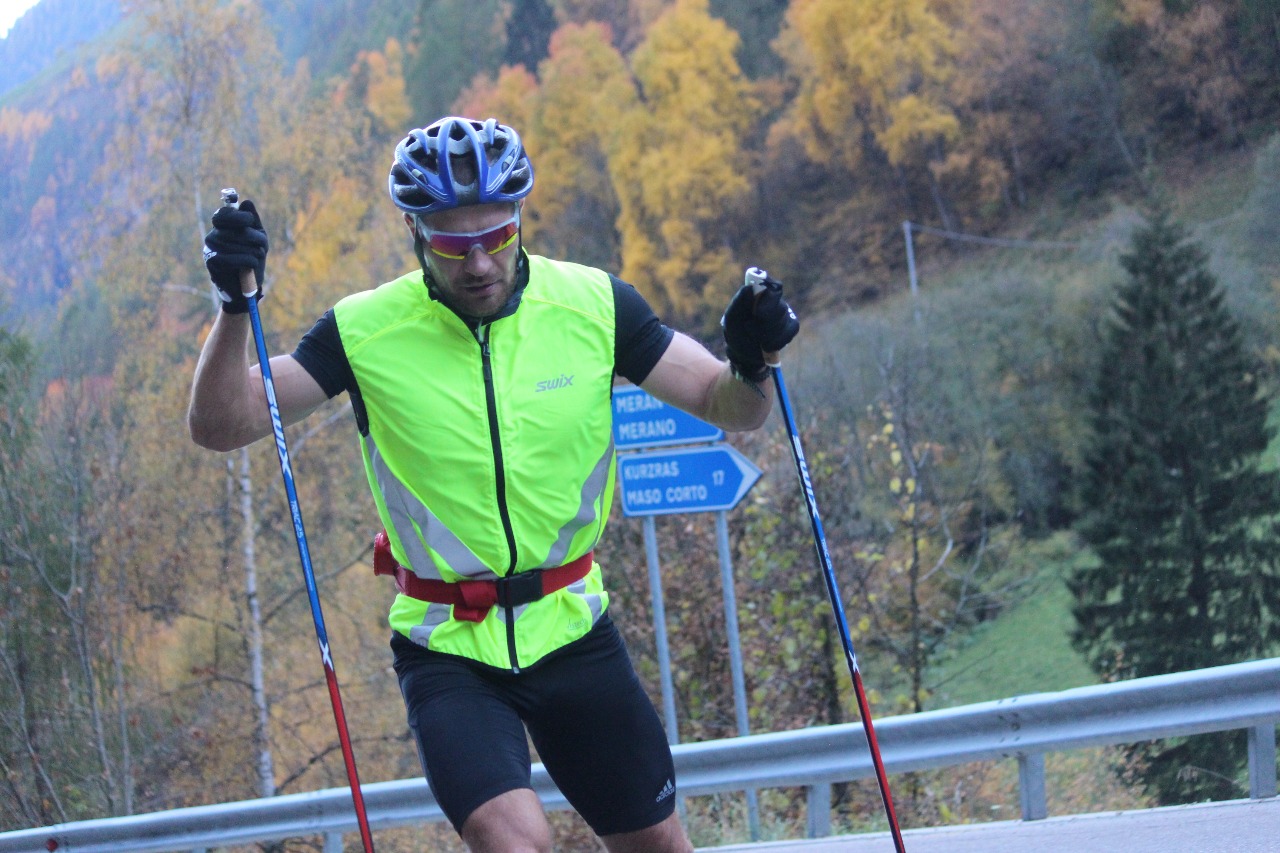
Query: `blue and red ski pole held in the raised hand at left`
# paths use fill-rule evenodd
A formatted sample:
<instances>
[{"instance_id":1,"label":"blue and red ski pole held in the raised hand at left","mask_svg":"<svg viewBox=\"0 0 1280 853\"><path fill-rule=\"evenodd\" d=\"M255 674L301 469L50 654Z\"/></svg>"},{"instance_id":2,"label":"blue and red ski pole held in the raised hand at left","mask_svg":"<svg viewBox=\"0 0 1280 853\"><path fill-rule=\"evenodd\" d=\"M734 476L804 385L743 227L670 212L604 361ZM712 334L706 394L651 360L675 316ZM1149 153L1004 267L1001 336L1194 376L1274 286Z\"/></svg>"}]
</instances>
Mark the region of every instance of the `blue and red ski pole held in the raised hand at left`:
<instances>
[{"instance_id":1,"label":"blue and red ski pole held in the raised hand at left","mask_svg":"<svg viewBox=\"0 0 1280 853\"><path fill-rule=\"evenodd\" d=\"M239 193L234 188L223 190L223 205L237 206ZM241 273L242 287L252 270ZM253 327L253 345L257 347L257 364L262 371L262 388L266 391L266 407L271 414L271 432L275 433L275 453L280 459L280 474L284 476L284 493L289 498L289 515L293 516L293 535L298 542L298 557L302 560L302 576L307 584L307 599L311 602L311 620L316 626L316 639L320 643L320 661L324 663L324 676L329 685L329 702L333 704L333 719L338 724L338 743L342 747L342 761L347 766L347 781L351 785L351 799L356 807L356 822L360 825L360 840L365 853L374 853L374 836L369 831L369 817L365 813L365 795L360 790L360 775L356 772L356 754L351 749L351 734L347 731L347 715L342 710L342 694L338 692L338 674L333 669L333 656L329 653L329 633L324 626L324 612L320 610L320 593L316 590L315 571L311 569L311 551L307 548L307 534L302 529L302 510L298 507L298 492L293 487L293 466L289 464L289 447L284 442L284 424L280 420L280 406L275 400L275 383L271 380L271 364L266 355L266 337L262 334L262 318L257 313L256 292L248 292L248 319Z\"/></svg>"}]
</instances>

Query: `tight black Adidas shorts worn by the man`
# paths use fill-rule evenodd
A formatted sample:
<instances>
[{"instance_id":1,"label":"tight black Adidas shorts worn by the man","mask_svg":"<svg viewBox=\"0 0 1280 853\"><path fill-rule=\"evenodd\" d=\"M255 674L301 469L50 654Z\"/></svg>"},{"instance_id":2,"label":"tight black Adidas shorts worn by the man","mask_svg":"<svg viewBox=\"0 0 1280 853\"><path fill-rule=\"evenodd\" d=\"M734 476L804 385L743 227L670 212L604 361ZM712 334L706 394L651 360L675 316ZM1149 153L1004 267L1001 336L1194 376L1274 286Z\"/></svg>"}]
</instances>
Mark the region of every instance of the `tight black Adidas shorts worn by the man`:
<instances>
[{"instance_id":1,"label":"tight black Adidas shorts worn by the man","mask_svg":"<svg viewBox=\"0 0 1280 853\"><path fill-rule=\"evenodd\" d=\"M671 747L608 613L520 674L430 652L398 633L392 651L426 781L460 833L481 803L530 788L526 726L547 772L596 835L646 829L675 811Z\"/></svg>"}]
</instances>

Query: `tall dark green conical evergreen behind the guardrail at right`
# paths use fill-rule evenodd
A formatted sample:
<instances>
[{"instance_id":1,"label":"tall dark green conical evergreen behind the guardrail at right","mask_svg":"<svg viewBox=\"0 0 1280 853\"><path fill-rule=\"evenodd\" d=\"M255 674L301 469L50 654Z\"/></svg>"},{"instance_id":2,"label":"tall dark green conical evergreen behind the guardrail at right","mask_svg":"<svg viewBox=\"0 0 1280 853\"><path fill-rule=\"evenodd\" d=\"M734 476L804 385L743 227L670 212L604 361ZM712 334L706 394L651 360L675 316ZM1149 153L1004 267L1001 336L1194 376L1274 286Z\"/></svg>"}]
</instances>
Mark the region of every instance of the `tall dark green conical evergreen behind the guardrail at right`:
<instances>
[{"instance_id":1,"label":"tall dark green conical evergreen behind the guardrail at right","mask_svg":"<svg viewBox=\"0 0 1280 853\"><path fill-rule=\"evenodd\" d=\"M1280 476L1258 365L1204 251L1157 209L1121 256L1091 397L1071 579L1074 642L1096 671L1138 678L1274 653L1280 642ZM1161 802L1240 795L1243 733L1139 747Z\"/></svg>"}]
</instances>

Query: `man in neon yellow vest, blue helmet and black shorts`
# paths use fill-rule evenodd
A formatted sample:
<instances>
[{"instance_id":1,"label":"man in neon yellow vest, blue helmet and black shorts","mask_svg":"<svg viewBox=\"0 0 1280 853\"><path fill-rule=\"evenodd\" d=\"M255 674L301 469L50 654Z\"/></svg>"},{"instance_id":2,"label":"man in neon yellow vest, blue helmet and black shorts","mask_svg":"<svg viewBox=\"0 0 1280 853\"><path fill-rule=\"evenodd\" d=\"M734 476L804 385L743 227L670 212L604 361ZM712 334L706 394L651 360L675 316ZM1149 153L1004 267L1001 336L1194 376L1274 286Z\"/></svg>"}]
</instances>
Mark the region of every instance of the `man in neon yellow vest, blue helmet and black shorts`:
<instances>
[{"instance_id":1,"label":"man in neon yellow vest, blue helmet and black shorts","mask_svg":"<svg viewBox=\"0 0 1280 853\"><path fill-rule=\"evenodd\" d=\"M385 526L379 556L399 590L389 621L408 724L467 848L550 850L527 726L609 850L687 853L671 749L591 558L613 493L612 387L625 377L724 429L755 429L772 405L764 353L799 323L781 288L744 288L719 361L631 286L526 254L532 184L518 134L494 119L411 132L389 191L421 270L343 298L271 360L280 416L351 396ZM266 247L252 202L214 215L205 255L224 311L188 412L204 447L271 433L244 316Z\"/></svg>"}]
</instances>

